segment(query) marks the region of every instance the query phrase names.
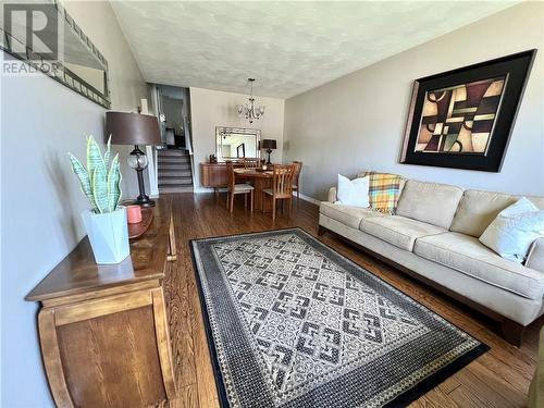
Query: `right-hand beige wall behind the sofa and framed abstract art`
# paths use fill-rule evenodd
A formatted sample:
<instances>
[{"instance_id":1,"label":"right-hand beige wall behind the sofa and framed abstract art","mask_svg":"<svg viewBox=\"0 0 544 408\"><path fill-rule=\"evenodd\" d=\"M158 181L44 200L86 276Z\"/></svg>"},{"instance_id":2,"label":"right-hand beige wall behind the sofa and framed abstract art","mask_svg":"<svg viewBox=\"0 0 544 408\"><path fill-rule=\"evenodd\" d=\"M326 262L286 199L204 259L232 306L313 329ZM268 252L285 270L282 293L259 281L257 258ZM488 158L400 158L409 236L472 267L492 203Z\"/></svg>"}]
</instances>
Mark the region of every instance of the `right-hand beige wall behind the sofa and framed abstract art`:
<instances>
[{"instance_id":1,"label":"right-hand beige wall behind the sofa and framed abstract art","mask_svg":"<svg viewBox=\"0 0 544 408\"><path fill-rule=\"evenodd\" d=\"M544 3L512 7L285 101L284 161L324 199L336 174L379 170L469 188L544 195ZM399 164L413 81L539 48L500 173Z\"/></svg>"}]
</instances>

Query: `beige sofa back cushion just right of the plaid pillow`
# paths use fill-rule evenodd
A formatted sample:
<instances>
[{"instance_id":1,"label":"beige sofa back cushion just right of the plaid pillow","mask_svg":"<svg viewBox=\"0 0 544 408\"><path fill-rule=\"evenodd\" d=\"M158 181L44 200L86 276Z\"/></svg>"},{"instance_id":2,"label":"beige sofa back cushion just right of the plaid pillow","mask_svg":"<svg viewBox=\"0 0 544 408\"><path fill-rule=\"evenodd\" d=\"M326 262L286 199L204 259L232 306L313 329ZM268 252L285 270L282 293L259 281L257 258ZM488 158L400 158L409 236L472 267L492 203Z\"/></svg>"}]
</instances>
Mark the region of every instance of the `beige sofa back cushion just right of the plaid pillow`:
<instances>
[{"instance_id":1,"label":"beige sofa back cushion just right of the plaid pillow","mask_svg":"<svg viewBox=\"0 0 544 408\"><path fill-rule=\"evenodd\" d=\"M409 180L398 200L397 215L449 228L462 189L447 184Z\"/></svg>"}]
</instances>

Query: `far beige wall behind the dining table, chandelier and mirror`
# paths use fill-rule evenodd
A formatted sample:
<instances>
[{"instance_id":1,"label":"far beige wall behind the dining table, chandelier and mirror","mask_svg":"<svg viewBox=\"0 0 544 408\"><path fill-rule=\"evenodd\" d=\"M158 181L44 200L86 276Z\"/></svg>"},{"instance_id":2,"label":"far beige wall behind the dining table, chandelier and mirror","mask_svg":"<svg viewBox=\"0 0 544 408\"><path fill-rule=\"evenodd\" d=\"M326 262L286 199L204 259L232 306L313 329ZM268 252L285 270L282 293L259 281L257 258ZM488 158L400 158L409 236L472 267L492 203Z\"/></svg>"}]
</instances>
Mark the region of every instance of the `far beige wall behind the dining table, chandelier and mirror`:
<instances>
[{"instance_id":1,"label":"far beige wall behind the dining table, chandelier and mirror","mask_svg":"<svg viewBox=\"0 0 544 408\"><path fill-rule=\"evenodd\" d=\"M248 96L220 90L190 88L190 120L193 149L195 152L195 190L200 187L200 162L208 161L215 153L215 126L258 128L261 139L276 139L277 150L272 152L272 161L282 161L284 100L256 96L256 102L265 107L264 115L249 124L236 114L236 104L247 102ZM262 152L265 154L264 152ZM261 156L264 157L264 156Z\"/></svg>"}]
</instances>

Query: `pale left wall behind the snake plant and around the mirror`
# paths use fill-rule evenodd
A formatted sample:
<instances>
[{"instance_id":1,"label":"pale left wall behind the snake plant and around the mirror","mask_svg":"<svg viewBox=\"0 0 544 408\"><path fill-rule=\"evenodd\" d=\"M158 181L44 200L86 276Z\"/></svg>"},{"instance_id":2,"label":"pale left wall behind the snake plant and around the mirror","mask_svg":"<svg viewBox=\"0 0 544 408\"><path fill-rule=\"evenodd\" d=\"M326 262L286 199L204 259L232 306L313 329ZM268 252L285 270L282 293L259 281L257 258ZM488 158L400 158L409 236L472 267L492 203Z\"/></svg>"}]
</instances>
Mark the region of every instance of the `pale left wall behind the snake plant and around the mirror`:
<instances>
[{"instance_id":1,"label":"pale left wall behind the snake plant and around the mirror","mask_svg":"<svg viewBox=\"0 0 544 408\"><path fill-rule=\"evenodd\" d=\"M110 63L112 108L135 110L147 87L109 3L77 2L66 9ZM49 407L37 305L24 297L85 234L79 214L88 205L66 152L85 157L84 136L103 135L104 109L44 75L2 76L0 86L0 406ZM134 194L134 171L122 171L125 196Z\"/></svg>"}]
</instances>

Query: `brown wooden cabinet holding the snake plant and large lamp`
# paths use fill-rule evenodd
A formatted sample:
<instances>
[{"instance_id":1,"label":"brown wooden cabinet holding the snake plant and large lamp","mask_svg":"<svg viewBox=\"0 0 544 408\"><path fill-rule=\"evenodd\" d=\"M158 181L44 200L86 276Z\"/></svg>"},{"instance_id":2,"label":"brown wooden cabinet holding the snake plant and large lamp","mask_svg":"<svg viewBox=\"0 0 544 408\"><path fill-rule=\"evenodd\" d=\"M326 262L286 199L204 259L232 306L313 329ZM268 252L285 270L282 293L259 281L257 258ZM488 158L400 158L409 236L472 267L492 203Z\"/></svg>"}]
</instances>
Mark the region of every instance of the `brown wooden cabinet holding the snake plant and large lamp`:
<instances>
[{"instance_id":1,"label":"brown wooden cabinet holding the snake plant and large lamp","mask_svg":"<svg viewBox=\"0 0 544 408\"><path fill-rule=\"evenodd\" d=\"M131 256L98 265L87 237L26 297L39 301L44 364L58 407L144 407L175 397L162 280L175 259L171 199L157 200Z\"/></svg>"}]
</instances>

